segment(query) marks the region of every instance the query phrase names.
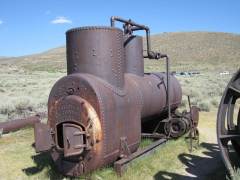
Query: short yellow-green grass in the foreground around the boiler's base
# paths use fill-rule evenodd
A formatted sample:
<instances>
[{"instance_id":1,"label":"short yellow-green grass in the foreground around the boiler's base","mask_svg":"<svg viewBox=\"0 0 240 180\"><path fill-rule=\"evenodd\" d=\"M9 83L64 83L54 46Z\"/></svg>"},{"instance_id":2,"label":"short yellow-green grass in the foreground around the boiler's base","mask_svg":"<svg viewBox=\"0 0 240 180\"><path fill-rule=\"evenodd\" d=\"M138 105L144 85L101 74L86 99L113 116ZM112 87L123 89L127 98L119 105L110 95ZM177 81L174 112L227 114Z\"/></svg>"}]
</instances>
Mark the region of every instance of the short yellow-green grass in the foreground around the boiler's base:
<instances>
[{"instance_id":1,"label":"short yellow-green grass in the foreground around the boiler's base","mask_svg":"<svg viewBox=\"0 0 240 180\"><path fill-rule=\"evenodd\" d=\"M184 138L169 141L154 154L135 160L121 179L196 176L196 173L191 174L188 170L191 163L196 163L196 166L198 166L197 161L194 161L191 157L199 161L205 161L205 163L212 158L213 150L209 147L214 147L216 144L215 115L216 112L202 112L200 114L200 143L203 144L193 153L189 153L188 144ZM17 179L65 178L55 170L48 155L36 155L31 146L32 143L32 129L10 133L0 139L0 179L16 179L16 177ZM206 146L206 144L209 146ZM184 158L187 157L190 159L185 162ZM223 168L223 164L220 164L218 168ZM112 167L103 168L87 175L87 177L91 179L119 178ZM218 177L218 174L209 174L209 177Z\"/></svg>"}]
</instances>

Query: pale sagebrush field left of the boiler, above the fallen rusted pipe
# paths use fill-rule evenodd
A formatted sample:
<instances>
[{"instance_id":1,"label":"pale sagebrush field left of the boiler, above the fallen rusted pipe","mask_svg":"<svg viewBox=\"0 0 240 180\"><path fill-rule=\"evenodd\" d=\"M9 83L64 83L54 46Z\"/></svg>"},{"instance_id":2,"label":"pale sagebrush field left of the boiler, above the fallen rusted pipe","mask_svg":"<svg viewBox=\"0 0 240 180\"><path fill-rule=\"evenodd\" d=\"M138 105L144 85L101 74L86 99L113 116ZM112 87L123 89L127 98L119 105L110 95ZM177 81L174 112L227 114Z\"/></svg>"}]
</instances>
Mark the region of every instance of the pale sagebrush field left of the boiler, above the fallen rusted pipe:
<instances>
[{"instance_id":1,"label":"pale sagebrush field left of the boiler, above the fallen rusted pipe","mask_svg":"<svg viewBox=\"0 0 240 180\"><path fill-rule=\"evenodd\" d=\"M0 66L0 121L47 111L48 95L63 73L24 71L13 65Z\"/></svg>"}]
</instances>

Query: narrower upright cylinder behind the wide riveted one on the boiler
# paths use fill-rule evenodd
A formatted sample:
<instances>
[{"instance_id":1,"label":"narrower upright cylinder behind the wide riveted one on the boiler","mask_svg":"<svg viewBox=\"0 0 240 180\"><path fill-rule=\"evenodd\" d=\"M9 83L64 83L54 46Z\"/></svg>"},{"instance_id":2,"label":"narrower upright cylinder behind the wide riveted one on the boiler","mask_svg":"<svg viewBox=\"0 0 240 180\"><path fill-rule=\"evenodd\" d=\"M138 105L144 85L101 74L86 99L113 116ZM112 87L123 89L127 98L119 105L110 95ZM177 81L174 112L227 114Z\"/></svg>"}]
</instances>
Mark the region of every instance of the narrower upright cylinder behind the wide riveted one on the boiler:
<instances>
[{"instance_id":1,"label":"narrower upright cylinder behind the wide riveted one on the boiler","mask_svg":"<svg viewBox=\"0 0 240 180\"><path fill-rule=\"evenodd\" d=\"M126 73L144 75L143 42L140 36L128 36L124 38L126 55Z\"/></svg>"}]
</instances>

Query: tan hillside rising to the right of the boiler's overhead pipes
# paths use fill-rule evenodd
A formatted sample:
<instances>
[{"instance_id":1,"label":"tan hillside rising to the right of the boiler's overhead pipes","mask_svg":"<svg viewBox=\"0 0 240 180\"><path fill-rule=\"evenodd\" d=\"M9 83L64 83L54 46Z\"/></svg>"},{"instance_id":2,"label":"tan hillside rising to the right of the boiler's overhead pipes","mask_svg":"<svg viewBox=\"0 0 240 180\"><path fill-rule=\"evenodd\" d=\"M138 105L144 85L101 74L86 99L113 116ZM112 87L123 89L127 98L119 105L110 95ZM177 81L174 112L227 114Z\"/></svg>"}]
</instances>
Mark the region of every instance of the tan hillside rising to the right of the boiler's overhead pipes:
<instances>
[{"instance_id":1,"label":"tan hillside rising to the right of the boiler's overhead pipes","mask_svg":"<svg viewBox=\"0 0 240 180\"><path fill-rule=\"evenodd\" d=\"M153 49L167 53L178 68L204 70L239 67L240 35L211 32L164 33L152 37ZM184 67L185 66L185 67Z\"/></svg>"}]
</instances>

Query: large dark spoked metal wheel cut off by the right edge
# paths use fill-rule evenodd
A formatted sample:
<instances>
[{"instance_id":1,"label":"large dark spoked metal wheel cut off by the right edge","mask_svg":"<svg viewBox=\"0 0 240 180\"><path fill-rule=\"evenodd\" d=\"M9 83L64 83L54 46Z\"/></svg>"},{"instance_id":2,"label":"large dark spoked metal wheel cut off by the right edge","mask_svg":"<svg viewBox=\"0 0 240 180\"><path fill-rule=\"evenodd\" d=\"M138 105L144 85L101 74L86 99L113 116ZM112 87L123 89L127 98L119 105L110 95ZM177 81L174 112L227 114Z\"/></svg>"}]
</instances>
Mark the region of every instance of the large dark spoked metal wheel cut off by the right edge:
<instances>
[{"instance_id":1,"label":"large dark spoked metal wheel cut off by the right edge","mask_svg":"<svg viewBox=\"0 0 240 180\"><path fill-rule=\"evenodd\" d=\"M240 69L233 76L223 94L217 116L217 139L222 159L230 175L235 164L231 153L240 159Z\"/></svg>"}]
</instances>

